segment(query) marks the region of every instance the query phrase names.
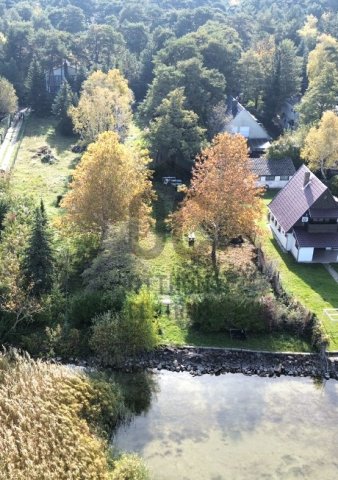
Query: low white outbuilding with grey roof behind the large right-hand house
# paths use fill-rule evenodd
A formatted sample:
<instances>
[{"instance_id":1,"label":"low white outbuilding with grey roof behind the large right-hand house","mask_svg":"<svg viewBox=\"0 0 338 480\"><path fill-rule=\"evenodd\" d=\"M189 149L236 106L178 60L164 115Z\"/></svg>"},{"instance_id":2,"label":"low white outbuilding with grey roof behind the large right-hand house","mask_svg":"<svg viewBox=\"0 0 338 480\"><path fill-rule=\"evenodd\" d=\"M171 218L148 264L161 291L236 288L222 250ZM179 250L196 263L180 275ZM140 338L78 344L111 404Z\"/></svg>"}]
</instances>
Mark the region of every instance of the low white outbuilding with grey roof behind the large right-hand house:
<instances>
[{"instance_id":1,"label":"low white outbuilding with grey roof behind the large right-hand house","mask_svg":"<svg viewBox=\"0 0 338 480\"><path fill-rule=\"evenodd\" d=\"M252 171L258 176L258 186L283 188L296 173L291 158L252 158Z\"/></svg>"}]
</instances>

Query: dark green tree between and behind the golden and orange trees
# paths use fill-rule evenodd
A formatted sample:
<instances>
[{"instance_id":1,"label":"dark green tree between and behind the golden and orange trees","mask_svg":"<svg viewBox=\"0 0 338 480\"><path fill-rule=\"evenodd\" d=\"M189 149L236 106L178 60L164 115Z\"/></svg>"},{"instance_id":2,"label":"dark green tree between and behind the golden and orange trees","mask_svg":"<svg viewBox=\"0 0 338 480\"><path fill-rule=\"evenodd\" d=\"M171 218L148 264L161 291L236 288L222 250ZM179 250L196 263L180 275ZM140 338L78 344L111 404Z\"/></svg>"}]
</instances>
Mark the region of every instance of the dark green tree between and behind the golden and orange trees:
<instances>
[{"instance_id":1,"label":"dark green tree between and behind the golden and orange trees","mask_svg":"<svg viewBox=\"0 0 338 480\"><path fill-rule=\"evenodd\" d=\"M185 108L183 88L171 92L150 123L147 138L157 163L190 165L200 151L205 130L198 125L196 113Z\"/></svg>"}]
</instances>

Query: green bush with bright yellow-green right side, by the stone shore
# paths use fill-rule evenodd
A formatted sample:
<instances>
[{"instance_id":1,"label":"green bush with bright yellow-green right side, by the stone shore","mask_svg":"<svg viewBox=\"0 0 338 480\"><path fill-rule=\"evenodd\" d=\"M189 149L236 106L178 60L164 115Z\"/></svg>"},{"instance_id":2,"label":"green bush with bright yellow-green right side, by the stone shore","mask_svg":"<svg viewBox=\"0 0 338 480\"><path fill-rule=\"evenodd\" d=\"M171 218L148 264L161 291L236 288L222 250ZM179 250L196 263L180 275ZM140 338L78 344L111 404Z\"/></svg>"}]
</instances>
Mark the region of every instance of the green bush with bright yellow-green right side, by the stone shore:
<instances>
[{"instance_id":1,"label":"green bush with bright yellow-green right side, by the stone shore","mask_svg":"<svg viewBox=\"0 0 338 480\"><path fill-rule=\"evenodd\" d=\"M156 309L155 296L142 288L127 296L121 313L108 311L95 317L90 346L103 364L118 364L155 347Z\"/></svg>"}]
</instances>

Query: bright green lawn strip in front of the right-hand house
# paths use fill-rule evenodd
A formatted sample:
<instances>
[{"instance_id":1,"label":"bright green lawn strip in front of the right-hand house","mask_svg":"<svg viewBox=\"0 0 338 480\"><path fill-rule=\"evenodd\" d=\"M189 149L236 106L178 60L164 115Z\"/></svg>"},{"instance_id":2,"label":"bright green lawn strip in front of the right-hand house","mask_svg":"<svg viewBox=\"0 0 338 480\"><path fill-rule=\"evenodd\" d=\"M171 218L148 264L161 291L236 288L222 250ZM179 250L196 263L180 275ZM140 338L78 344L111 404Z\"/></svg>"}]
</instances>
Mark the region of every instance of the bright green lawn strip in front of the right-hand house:
<instances>
[{"instance_id":1,"label":"bright green lawn strip in front of the right-hand house","mask_svg":"<svg viewBox=\"0 0 338 480\"><path fill-rule=\"evenodd\" d=\"M267 192L266 203L272 192ZM290 253L283 253L266 223L262 241L266 255L276 262L284 289L318 316L330 337L329 350L338 350L338 323L331 322L323 312L325 308L338 308L338 284L323 265L299 264Z\"/></svg>"}]
</instances>

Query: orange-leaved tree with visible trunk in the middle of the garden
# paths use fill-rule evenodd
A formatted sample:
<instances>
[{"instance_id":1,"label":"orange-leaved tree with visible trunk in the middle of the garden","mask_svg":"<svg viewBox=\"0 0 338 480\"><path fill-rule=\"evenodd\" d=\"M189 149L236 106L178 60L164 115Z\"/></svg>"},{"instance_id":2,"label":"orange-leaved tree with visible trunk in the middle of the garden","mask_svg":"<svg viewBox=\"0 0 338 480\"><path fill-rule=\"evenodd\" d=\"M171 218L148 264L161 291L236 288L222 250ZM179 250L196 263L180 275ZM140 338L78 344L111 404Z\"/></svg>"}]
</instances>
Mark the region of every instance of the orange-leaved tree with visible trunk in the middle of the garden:
<instances>
[{"instance_id":1,"label":"orange-leaved tree with visible trunk in the middle of the garden","mask_svg":"<svg viewBox=\"0 0 338 480\"><path fill-rule=\"evenodd\" d=\"M173 220L183 232L197 229L207 234L215 267L222 239L257 231L262 189L256 181L241 135L216 136L196 159L191 186Z\"/></svg>"}]
</instances>

